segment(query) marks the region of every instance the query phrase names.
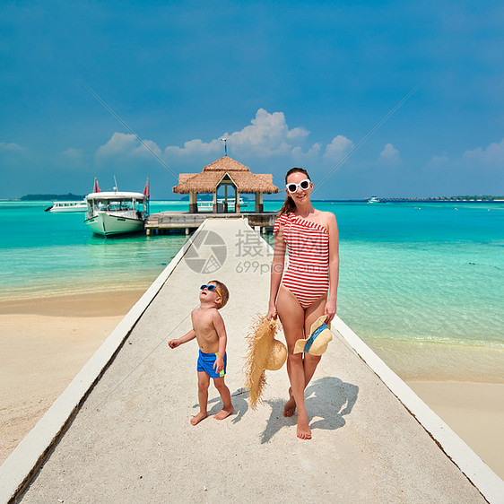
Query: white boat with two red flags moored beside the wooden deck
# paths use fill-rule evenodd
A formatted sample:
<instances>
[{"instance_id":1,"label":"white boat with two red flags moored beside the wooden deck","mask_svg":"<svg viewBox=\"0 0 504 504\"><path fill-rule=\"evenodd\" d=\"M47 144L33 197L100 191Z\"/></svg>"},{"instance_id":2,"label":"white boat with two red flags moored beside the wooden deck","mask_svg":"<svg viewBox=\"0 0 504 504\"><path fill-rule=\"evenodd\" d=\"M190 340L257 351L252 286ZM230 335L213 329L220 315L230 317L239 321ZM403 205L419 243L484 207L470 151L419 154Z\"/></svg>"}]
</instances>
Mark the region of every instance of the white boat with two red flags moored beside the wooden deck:
<instances>
[{"instance_id":1,"label":"white boat with two red flags moored beside the wooden deck","mask_svg":"<svg viewBox=\"0 0 504 504\"><path fill-rule=\"evenodd\" d=\"M95 178L94 192L86 196L84 223L93 233L104 236L141 231L149 215L149 192L148 178L143 193L100 192Z\"/></svg>"}]
</instances>

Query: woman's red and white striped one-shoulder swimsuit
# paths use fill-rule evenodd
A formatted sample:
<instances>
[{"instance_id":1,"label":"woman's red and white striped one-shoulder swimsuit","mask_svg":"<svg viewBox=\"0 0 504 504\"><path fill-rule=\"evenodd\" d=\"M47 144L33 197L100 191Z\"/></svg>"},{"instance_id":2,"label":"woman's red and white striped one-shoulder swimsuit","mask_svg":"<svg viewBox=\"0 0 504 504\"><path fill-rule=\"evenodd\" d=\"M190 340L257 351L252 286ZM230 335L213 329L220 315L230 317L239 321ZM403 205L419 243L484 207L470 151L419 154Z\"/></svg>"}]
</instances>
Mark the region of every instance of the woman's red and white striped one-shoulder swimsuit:
<instances>
[{"instance_id":1,"label":"woman's red and white striped one-shoulder swimsuit","mask_svg":"<svg viewBox=\"0 0 504 504\"><path fill-rule=\"evenodd\" d=\"M274 233L281 224L289 254L282 284L306 309L329 289L329 233L322 224L293 213L282 213L274 222Z\"/></svg>"}]
</instances>

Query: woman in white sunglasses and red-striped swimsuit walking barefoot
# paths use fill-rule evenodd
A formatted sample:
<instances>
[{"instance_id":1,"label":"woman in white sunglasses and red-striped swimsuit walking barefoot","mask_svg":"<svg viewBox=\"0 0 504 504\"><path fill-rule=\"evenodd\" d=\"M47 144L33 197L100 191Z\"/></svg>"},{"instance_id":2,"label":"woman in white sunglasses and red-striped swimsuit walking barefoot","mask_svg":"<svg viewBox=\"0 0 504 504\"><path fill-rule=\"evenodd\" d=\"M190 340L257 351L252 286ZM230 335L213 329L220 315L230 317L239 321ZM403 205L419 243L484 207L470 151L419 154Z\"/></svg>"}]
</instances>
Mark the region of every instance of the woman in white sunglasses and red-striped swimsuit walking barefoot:
<instances>
[{"instance_id":1,"label":"woman in white sunglasses and red-striped swimsuit walking barefoot","mask_svg":"<svg viewBox=\"0 0 504 504\"><path fill-rule=\"evenodd\" d=\"M310 203L313 184L308 171L292 168L285 176L287 198L274 224L274 258L267 318L280 317L287 343L287 372L291 380L284 416L298 409L300 439L311 439L304 391L320 356L293 353L295 343L309 337L311 325L336 313L339 254L338 227L334 213L320 212ZM285 249L289 267L283 272ZM306 336L305 336L306 335Z\"/></svg>"}]
</instances>

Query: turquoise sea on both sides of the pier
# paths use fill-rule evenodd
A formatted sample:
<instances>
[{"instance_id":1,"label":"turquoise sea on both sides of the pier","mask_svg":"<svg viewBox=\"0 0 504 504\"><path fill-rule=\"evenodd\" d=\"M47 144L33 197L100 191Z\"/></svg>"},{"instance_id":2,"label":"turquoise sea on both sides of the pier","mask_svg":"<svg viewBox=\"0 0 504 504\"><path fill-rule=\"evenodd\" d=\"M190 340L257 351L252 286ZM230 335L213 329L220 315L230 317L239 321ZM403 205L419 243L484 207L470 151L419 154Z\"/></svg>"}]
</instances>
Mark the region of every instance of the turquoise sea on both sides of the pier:
<instances>
[{"instance_id":1,"label":"turquoise sea on both sides of the pier","mask_svg":"<svg viewBox=\"0 0 504 504\"><path fill-rule=\"evenodd\" d=\"M103 239L83 213L0 202L0 297L147 287L187 237ZM265 202L278 210L282 202ZM375 347L445 343L504 352L504 204L314 202L340 231L338 315ZM152 202L151 212L187 210ZM271 238L271 237L270 237Z\"/></svg>"}]
</instances>

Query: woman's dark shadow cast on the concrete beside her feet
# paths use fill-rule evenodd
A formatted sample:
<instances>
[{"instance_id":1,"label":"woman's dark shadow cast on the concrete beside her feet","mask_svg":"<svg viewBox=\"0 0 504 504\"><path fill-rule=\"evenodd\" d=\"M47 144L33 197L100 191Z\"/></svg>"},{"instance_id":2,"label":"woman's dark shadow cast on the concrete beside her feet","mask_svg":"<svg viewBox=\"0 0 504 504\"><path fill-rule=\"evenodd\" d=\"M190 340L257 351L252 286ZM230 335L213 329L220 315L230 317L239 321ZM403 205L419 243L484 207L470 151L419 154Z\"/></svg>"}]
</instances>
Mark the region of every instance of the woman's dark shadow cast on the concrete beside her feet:
<instances>
[{"instance_id":1,"label":"woman's dark shadow cast on the concrete beside her feet","mask_svg":"<svg viewBox=\"0 0 504 504\"><path fill-rule=\"evenodd\" d=\"M339 378L318 378L305 390L305 404L311 429L336 430L343 427L343 415L352 412L357 402L359 387L345 383ZM265 401L270 404L271 414L266 428L261 434L261 443L267 443L285 425L295 425L297 415L290 418L283 416L286 399ZM313 421L317 417L316 421Z\"/></svg>"}]
</instances>

